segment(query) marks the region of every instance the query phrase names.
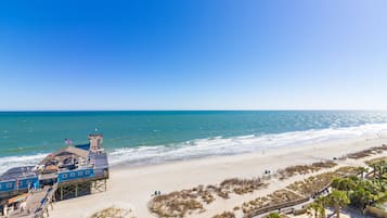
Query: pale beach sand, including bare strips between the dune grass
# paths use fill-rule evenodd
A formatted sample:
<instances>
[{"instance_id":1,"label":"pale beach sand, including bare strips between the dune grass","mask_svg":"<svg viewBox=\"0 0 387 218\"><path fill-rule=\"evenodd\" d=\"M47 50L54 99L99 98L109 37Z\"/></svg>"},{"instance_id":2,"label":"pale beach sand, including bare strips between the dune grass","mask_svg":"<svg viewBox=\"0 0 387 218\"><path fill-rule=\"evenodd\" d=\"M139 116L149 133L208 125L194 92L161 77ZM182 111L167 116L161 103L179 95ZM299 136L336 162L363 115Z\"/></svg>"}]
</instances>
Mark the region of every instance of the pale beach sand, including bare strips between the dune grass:
<instances>
[{"instance_id":1,"label":"pale beach sand, including bare strips between the dune grass","mask_svg":"<svg viewBox=\"0 0 387 218\"><path fill-rule=\"evenodd\" d=\"M359 136L356 139L335 139L330 142L314 142L302 146L268 149L266 151L222 157L181 161L153 166L117 166L111 170L106 192L77 197L54 204L51 217L86 218L106 207L116 205L133 210L136 217L156 217L147 209L154 191L169 193L191 189L198 184L216 184L229 178L251 178L262 176L266 169L275 171L298 164L333 159L348 153L362 151L387 143L387 134ZM384 155L384 154L379 154ZM361 165L354 159L338 161L339 166ZM322 171L320 171L322 172ZM319 172L319 174L320 174ZM267 189L253 194L219 200L205 207L206 211L191 217L212 217L224 210L232 210L243 202L269 194L307 176L296 176L284 181L273 181Z\"/></svg>"}]
</instances>

